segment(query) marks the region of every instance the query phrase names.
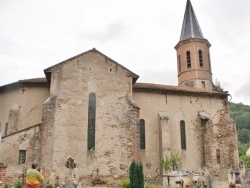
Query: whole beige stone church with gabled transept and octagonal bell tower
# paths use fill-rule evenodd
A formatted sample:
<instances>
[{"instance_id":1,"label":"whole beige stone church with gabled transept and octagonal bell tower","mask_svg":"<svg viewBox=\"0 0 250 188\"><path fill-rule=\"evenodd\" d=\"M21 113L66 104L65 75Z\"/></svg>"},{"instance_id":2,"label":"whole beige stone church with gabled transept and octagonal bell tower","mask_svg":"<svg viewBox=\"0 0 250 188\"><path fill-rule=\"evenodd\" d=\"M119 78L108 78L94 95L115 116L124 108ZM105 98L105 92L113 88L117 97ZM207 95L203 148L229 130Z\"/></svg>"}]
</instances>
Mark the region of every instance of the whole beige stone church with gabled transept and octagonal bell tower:
<instances>
[{"instance_id":1,"label":"whole beige stone church with gabled transept and octagonal bell tower","mask_svg":"<svg viewBox=\"0 0 250 188\"><path fill-rule=\"evenodd\" d=\"M0 86L4 180L37 162L47 182L54 176L61 184L71 159L83 185L94 174L121 184L132 160L153 180L171 152L181 170L206 167L225 178L239 165L236 125L228 92L212 81L210 46L187 0L175 46L178 86L138 83L136 73L95 48L44 69L44 78Z\"/></svg>"}]
</instances>

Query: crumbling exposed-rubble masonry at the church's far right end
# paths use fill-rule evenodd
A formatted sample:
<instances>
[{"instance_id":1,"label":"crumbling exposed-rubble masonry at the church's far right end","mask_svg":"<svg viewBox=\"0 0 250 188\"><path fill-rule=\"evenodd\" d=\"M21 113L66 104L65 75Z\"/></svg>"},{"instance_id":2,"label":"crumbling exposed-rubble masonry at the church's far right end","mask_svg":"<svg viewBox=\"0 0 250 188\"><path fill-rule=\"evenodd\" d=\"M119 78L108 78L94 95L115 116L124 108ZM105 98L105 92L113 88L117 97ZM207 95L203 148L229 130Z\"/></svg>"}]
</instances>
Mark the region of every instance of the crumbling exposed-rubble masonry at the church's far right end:
<instances>
[{"instance_id":1,"label":"crumbling exposed-rubble masonry at the church's far right end","mask_svg":"<svg viewBox=\"0 0 250 188\"><path fill-rule=\"evenodd\" d=\"M238 146L237 146L237 132L236 124L229 117L227 105L218 110L219 122L214 124L211 129L211 158L212 172L215 176L223 176L220 173L223 169L238 169ZM219 153L217 153L218 151ZM227 173L227 172L226 172ZM227 178L227 174L223 178Z\"/></svg>"}]
</instances>

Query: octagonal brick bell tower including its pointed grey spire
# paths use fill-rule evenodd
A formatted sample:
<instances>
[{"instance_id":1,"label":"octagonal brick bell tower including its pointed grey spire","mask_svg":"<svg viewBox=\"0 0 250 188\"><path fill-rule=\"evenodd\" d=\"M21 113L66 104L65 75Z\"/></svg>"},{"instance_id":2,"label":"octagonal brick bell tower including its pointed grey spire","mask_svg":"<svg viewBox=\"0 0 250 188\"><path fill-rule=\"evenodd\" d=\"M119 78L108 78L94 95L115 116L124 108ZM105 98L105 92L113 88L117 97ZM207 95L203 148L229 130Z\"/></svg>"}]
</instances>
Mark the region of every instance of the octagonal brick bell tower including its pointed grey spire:
<instances>
[{"instance_id":1,"label":"octagonal brick bell tower including its pointed grey spire","mask_svg":"<svg viewBox=\"0 0 250 188\"><path fill-rule=\"evenodd\" d=\"M212 89L211 44L203 37L190 0L187 0L177 51L178 85Z\"/></svg>"}]
</instances>

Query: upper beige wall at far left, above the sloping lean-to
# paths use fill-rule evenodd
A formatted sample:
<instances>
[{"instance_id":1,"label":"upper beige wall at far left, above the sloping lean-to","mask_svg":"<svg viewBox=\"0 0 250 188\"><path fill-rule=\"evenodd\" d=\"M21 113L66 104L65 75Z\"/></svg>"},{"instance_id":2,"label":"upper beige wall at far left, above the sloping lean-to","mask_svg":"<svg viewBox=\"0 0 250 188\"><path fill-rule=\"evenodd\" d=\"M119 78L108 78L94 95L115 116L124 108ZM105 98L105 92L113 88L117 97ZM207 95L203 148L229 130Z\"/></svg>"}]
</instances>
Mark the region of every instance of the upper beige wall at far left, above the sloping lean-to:
<instances>
[{"instance_id":1,"label":"upper beige wall at far left, above the sloping lean-to","mask_svg":"<svg viewBox=\"0 0 250 188\"><path fill-rule=\"evenodd\" d=\"M24 89L25 88L25 89ZM0 122L2 136L41 123L42 103L49 97L49 88L44 86L19 85L0 91ZM8 123L8 131L5 131Z\"/></svg>"}]
</instances>

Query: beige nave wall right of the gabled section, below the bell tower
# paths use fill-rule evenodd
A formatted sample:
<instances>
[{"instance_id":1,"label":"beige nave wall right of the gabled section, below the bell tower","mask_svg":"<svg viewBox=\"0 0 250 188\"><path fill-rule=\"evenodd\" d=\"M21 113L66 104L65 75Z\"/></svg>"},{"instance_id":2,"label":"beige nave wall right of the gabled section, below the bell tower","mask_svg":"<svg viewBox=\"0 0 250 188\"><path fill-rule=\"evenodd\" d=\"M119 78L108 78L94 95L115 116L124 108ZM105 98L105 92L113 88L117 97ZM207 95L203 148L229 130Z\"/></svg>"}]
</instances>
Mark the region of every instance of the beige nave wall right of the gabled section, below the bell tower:
<instances>
[{"instance_id":1,"label":"beige nave wall right of the gabled section, below the bell tower","mask_svg":"<svg viewBox=\"0 0 250 188\"><path fill-rule=\"evenodd\" d=\"M133 98L140 107L140 119L145 119L146 149L143 163L151 164L152 175L160 168L160 159L171 151L182 158L183 170L199 170L207 166L211 174L237 168L236 125L229 117L227 99L209 95L174 95L137 89ZM147 101L147 102L145 102ZM162 130L162 152L159 147L159 112L167 115ZM206 116L201 117L202 115ZM202 119L203 118L203 119ZM187 149L181 149L180 121L186 125ZM166 132L169 131L169 132ZM217 164L216 150L220 149L221 164ZM214 173L217 172L217 173ZM224 173L226 175L226 173Z\"/></svg>"}]
</instances>

